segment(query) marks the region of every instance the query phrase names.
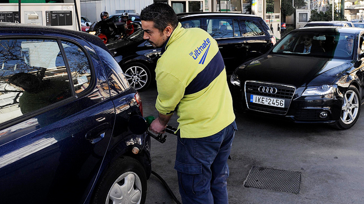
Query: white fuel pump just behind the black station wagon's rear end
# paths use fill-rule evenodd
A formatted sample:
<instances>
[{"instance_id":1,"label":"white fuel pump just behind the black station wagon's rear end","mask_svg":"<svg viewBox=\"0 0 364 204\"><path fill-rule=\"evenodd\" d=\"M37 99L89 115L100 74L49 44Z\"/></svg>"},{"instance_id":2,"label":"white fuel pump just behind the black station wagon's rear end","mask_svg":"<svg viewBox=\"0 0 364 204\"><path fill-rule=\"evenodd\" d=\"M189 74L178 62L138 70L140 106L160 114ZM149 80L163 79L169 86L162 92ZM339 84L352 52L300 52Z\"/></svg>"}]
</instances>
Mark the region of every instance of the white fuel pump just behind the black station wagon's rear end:
<instances>
[{"instance_id":1,"label":"white fuel pump just behind the black station wagon's rear end","mask_svg":"<svg viewBox=\"0 0 364 204\"><path fill-rule=\"evenodd\" d=\"M281 38L281 1L253 0L252 14L262 17L273 31L274 36Z\"/></svg>"}]
</instances>

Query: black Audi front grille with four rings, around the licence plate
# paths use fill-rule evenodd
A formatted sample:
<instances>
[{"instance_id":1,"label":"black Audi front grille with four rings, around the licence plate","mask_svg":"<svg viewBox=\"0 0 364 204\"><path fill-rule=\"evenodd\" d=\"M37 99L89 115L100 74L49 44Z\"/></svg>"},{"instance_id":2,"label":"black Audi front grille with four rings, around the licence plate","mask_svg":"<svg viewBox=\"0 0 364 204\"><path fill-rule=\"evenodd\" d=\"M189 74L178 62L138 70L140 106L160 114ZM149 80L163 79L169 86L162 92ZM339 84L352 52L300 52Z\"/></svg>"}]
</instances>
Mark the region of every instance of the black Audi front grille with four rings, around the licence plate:
<instances>
[{"instance_id":1,"label":"black Audi front grille with four rings, around the licence plate","mask_svg":"<svg viewBox=\"0 0 364 204\"><path fill-rule=\"evenodd\" d=\"M244 90L248 109L284 115L288 111L296 87L269 82L246 81ZM284 107L253 103L250 101L251 95L284 100Z\"/></svg>"}]
</instances>

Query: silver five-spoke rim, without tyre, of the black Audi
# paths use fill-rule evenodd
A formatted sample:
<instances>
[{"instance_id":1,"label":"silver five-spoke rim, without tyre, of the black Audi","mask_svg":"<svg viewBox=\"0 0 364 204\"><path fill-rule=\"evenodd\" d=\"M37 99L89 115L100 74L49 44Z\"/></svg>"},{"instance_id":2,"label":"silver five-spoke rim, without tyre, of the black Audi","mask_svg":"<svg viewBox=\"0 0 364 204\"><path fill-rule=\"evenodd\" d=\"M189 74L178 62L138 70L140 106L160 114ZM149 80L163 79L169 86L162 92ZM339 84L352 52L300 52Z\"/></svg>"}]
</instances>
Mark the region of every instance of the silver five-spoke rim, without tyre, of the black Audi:
<instances>
[{"instance_id":1,"label":"silver five-spoke rim, without tyre, of the black Audi","mask_svg":"<svg viewBox=\"0 0 364 204\"><path fill-rule=\"evenodd\" d=\"M344 124L352 123L359 112L359 99L356 93L349 90L345 93L343 107L341 107L341 121Z\"/></svg>"}]
</instances>

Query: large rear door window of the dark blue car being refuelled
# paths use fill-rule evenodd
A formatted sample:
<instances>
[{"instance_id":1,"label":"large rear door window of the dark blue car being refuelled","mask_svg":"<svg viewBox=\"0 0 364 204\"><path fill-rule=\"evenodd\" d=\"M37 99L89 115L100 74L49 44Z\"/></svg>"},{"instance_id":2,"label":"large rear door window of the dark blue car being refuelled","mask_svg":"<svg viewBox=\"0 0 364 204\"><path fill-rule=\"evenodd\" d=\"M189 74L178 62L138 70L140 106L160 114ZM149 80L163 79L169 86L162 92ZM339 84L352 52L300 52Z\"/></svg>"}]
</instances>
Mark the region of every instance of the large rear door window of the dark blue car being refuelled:
<instances>
[{"instance_id":1,"label":"large rear door window of the dark blue car being refuelled","mask_svg":"<svg viewBox=\"0 0 364 204\"><path fill-rule=\"evenodd\" d=\"M0 66L0 123L72 96L55 40L0 40Z\"/></svg>"}]
</instances>

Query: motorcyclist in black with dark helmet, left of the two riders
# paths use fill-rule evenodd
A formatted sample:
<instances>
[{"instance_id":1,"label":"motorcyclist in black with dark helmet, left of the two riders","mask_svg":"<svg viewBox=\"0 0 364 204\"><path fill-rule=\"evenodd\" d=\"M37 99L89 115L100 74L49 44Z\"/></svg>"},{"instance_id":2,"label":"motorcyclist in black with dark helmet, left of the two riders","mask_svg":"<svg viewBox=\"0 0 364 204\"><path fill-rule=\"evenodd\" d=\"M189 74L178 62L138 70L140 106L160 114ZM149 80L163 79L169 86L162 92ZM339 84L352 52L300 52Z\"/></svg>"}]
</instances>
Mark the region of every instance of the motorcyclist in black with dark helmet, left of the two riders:
<instances>
[{"instance_id":1,"label":"motorcyclist in black with dark helmet, left of the two riders","mask_svg":"<svg viewBox=\"0 0 364 204\"><path fill-rule=\"evenodd\" d=\"M96 23L95 28L100 30L100 33L107 37L107 41L114 40L116 34L118 33L118 28L115 23L109 19L109 14L106 11L100 14L101 21Z\"/></svg>"}]
</instances>

